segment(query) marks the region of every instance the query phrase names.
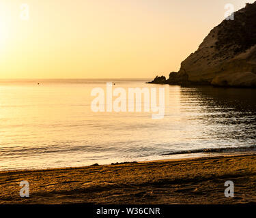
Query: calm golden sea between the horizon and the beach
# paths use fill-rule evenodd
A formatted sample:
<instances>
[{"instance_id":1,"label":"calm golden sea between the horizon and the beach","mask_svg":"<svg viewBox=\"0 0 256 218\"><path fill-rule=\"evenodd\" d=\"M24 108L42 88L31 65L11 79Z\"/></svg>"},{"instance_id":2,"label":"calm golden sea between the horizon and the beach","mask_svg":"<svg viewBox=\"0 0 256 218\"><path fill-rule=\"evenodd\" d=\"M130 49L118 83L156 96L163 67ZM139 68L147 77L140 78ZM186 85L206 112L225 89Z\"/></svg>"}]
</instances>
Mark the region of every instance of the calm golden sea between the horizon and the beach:
<instances>
[{"instance_id":1,"label":"calm golden sea between the horizon and the beach","mask_svg":"<svg viewBox=\"0 0 256 218\"><path fill-rule=\"evenodd\" d=\"M91 89L148 80L0 80L0 170L256 150L256 90L168 86L164 119L91 112ZM40 82L40 84L38 84Z\"/></svg>"}]
</instances>

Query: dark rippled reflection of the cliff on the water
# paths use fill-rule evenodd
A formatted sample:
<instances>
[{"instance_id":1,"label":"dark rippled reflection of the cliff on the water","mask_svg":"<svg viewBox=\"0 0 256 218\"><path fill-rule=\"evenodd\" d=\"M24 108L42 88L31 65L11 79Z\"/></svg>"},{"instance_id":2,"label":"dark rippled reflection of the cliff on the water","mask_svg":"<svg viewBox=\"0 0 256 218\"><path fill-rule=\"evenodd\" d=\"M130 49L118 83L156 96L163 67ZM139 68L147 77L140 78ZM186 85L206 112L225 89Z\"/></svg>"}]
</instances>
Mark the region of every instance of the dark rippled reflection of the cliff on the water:
<instances>
[{"instance_id":1,"label":"dark rippled reflection of the cliff on the water","mask_svg":"<svg viewBox=\"0 0 256 218\"><path fill-rule=\"evenodd\" d=\"M191 115L206 125L208 131L202 131L208 136L227 143L234 140L244 144L246 140L253 144L256 136L255 94L255 89L183 88L182 103L188 103L186 110L195 111Z\"/></svg>"}]
</instances>

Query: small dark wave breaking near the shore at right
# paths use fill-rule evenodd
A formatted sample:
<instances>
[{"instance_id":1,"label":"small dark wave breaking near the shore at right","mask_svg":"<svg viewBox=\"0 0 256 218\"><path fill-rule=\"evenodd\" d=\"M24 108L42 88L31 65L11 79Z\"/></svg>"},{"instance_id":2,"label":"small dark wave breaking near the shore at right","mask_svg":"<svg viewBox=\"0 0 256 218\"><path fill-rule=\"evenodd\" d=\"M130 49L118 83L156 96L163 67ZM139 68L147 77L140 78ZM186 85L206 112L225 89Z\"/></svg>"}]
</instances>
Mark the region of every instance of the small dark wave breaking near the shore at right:
<instances>
[{"instance_id":1,"label":"small dark wave breaking near the shore at right","mask_svg":"<svg viewBox=\"0 0 256 218\"><path fill-rule=\"evenodd\" d=\"M182 155L191 153L225 153L225 152L243 152L243 151L256 151L256 144L251 146L238 146L238 147L225 147L215 149L193 149L186 151L171 151L169 153L161 154L164 155Z\"/></svg>"}]
</instances>

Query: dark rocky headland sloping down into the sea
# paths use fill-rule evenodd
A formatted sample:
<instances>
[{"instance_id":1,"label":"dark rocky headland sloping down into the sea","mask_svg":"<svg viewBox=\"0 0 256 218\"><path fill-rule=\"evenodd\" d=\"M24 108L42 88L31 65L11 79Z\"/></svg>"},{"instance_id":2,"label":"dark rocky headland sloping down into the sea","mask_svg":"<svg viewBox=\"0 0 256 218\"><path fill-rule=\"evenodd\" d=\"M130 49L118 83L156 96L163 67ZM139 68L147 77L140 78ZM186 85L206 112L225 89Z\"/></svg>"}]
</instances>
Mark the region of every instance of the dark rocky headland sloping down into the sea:
<instances>
[{"instance_id":1,"label":"dark rocky headland sloping down into the sea","mask_svg":"<svg viewBox=\"0 0 256 218\"><path fill-rule=\"evenodd\" d=\"M152 83L256 87L256 1L214 27L179 72Z\"/></svg>"}]
</instances>

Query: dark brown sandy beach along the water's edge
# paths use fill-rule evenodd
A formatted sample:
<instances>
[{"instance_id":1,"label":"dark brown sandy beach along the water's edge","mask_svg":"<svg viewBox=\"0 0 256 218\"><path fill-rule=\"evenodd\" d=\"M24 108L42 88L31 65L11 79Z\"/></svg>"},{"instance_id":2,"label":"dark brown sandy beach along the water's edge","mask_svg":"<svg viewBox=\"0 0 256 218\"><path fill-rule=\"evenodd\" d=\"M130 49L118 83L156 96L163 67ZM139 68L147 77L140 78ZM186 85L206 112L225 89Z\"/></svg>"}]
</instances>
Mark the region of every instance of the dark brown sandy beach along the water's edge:
<instances>
[{"instance_id":1,"label":"dark brown sandy beach along the water's edge","mask_svg":"<svg viewBox=\"0 0 256 218\"><path fill-rule=\"evenodd\" d=\"M20 181L30 197L20 198ZM235 197L225 198L225 181ZM256 155L0 172L0 204L256 203Z\"/></svg>"}]
</instances>

